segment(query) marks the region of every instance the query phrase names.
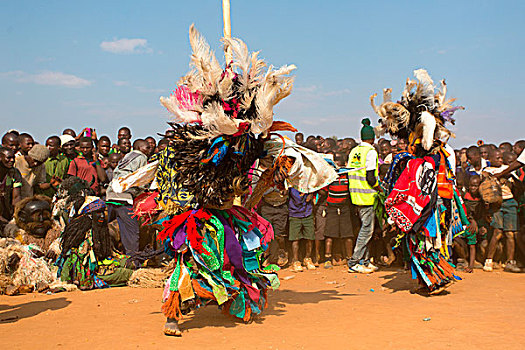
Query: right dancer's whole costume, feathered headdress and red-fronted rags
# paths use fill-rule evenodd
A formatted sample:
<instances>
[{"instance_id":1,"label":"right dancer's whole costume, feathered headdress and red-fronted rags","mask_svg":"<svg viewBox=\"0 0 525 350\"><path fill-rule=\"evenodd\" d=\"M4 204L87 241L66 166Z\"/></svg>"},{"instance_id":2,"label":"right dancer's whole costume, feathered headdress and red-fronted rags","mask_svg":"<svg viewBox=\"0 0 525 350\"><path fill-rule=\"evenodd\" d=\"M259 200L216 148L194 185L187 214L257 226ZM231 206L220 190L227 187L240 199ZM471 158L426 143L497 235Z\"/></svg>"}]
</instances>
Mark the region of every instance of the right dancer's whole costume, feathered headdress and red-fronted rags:
<instances>
[{"instance_id":1,"label":"right dancer's whole costume, feathered headdress and red-fronted rags","mask_svg":"<svg viewBox=\"0 0 525 350\"><path fill-rule=\"evenodd\" d=\"M407 80L398 102L390 100L391 89L384 90L380 106L374 104L376 95L370 101L380 117L376 135L388 132L409 142L408 152L394 157L387 174L385 208L399 229L396 247L404 246L410 255L413 278L434 293L459 279L448 262L449 247L468 226L444 147L453 136L445 124L453 124L454 112L464 108L445 99L444 80L436 91L426 70L414 75L416 80Z\"/></svg>"}]
</instances>

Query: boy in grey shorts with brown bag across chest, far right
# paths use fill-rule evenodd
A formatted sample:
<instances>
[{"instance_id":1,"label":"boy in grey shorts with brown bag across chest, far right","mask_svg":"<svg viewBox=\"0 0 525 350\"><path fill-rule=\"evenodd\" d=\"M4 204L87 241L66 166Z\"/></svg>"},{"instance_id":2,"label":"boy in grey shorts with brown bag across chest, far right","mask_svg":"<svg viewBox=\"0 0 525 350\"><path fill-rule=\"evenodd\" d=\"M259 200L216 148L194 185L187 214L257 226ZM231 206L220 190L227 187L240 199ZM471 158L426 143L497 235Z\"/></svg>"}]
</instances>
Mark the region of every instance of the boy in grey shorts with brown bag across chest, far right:
<instances>
[{"instance_id":1,"label":"boy in grey shorts with brown bag across chest, far right","mask_svg":"<svg viewBox=\"0 0 525 350\"><path fill-rule=\"evenodd\" d=\"M491 166L484 169L485 172L495 175L503 172L508 166L503 164L502 152L499 149L493 150L490 154ZM499 240L505 235L506 238L506 253L507 263L505 271L521 272L514 260L516 233L518 231L518 202L514 199L511 191L511 183L509 180L500 179L501 192L503 203L501 208L494 213L491 226L494 228L492 239L490 240L487 259L485 260L484 271L491 272L493 270L492 259L496 252L496 245Z\"/></svg>"}]
</instances>

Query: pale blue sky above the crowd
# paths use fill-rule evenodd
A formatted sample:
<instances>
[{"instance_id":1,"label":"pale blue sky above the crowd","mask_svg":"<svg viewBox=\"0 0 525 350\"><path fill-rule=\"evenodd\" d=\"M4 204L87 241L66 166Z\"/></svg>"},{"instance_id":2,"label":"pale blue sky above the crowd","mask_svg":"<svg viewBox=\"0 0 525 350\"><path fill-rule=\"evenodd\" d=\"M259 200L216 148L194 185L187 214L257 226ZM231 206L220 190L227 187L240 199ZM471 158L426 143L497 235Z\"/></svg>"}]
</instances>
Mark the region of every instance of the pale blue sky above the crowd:
<instances>
[{"instance_id":1,"label":"pale blue sky above the crowd","mask_svg":"<svg viewBox=\"0 0 525 350\"><path fill-rule=\"evenodd\" d=\"M276 108L305 134L358 135L377 116L369 96L397 98L426 68L446 78L457 112L453 146L525 139L523 1L240 1L232 34L273 65L295 64ZM221 1L0 1L0 132L40 142L65 127L166 129L160 96L188 70L195 23L223 60Z\"/></svg>"}]
</instances>

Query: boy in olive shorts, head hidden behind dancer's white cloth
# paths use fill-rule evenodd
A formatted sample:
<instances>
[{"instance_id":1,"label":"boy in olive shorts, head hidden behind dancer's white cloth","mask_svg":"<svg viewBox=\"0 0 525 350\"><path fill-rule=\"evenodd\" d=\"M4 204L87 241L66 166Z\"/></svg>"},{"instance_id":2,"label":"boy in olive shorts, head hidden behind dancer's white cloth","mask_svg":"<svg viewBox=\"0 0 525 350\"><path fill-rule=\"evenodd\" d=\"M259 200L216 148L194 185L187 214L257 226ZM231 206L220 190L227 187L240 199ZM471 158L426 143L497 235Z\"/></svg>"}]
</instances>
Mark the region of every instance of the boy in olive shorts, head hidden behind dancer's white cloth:
<instances>
[{"instance_id":1,"label":"boy in olive shorts, head hidden behind dancer's white cloth","mask_svg":"<svg viewBox=\"0 0 525 350\"><path fill-rule=\"evenodd\" d=\"M291 188L288 201L288 239L292 242L292 271L302 272L299 261L299 241L306 241L304 265L308 270L315 270L312 262L312 244L315 239L312 194L304 194Z\"/></svg>"}]
</instances>

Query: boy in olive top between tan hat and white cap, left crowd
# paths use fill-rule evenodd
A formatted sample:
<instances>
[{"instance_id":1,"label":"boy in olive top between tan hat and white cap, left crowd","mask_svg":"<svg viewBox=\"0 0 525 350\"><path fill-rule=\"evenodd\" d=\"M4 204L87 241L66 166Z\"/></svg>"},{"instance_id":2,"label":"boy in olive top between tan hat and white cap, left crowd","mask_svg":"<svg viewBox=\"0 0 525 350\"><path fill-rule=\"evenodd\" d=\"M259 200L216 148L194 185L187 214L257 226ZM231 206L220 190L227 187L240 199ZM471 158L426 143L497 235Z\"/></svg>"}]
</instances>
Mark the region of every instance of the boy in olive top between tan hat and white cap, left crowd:
<instances>
[{"instance_id":1,"label":"boy in olive top between tan hat and white cap, left crowd","mask_svg":"<svg viewBox=\"0 0 525 350\"><path fill-rule=\"evenodd\" d=\"M60 138L51 136L46 140L46 147L49 150L49 158L44 163L46 168L46 182L50 184L47 190L41 191L42 194L53 198L58 186L67 175L69 160L60 152Z\"/></svg>"}]
</instances>

